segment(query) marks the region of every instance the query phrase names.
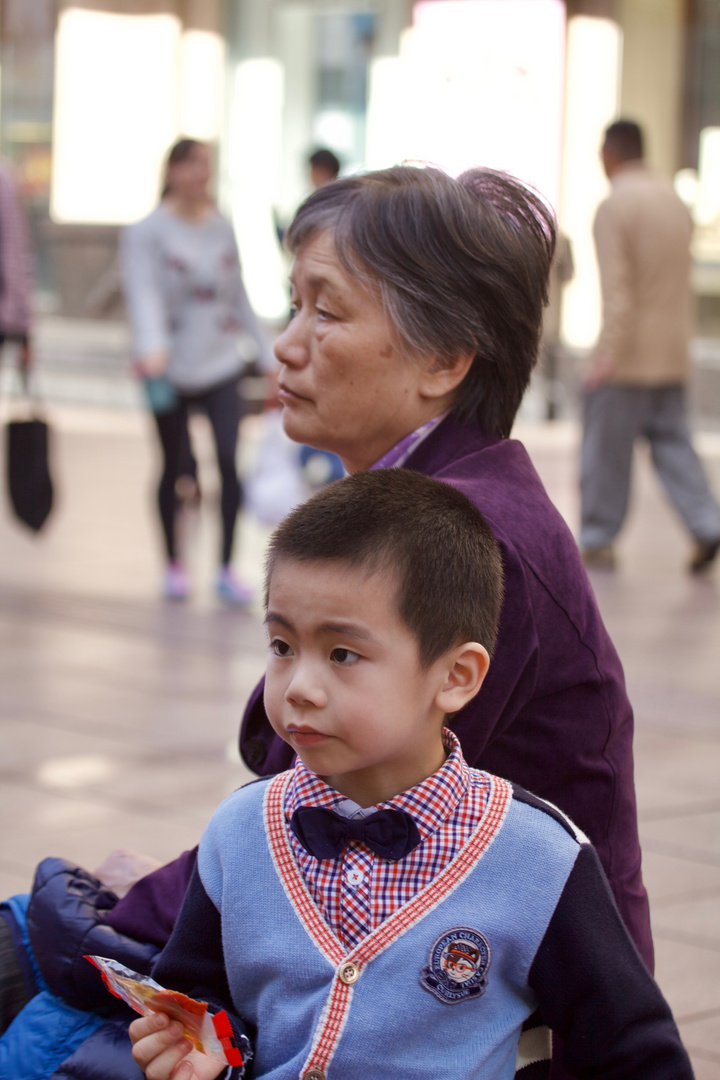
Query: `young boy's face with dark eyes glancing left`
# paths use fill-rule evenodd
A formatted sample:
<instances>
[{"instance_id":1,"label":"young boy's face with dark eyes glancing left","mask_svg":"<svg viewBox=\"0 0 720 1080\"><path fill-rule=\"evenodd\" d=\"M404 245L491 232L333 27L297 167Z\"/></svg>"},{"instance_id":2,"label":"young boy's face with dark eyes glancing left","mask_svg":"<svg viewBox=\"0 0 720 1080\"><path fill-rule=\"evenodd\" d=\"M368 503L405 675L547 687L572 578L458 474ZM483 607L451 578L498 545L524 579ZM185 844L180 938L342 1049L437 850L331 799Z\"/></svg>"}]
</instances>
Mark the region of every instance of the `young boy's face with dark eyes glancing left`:
<instances>
[{"instance_id":1,"label":"young boy's face with dark eyes glancing left","mask_svg":"<svg viewBox=\"0 0 720 1080\"><path fill-rule=\"evenodd\" d=\"M420 665L390 572L281 559L270 580L264 704L313 772L361 806L445 760L436 697L447 660Z\"/></svg>"}]
</instances>

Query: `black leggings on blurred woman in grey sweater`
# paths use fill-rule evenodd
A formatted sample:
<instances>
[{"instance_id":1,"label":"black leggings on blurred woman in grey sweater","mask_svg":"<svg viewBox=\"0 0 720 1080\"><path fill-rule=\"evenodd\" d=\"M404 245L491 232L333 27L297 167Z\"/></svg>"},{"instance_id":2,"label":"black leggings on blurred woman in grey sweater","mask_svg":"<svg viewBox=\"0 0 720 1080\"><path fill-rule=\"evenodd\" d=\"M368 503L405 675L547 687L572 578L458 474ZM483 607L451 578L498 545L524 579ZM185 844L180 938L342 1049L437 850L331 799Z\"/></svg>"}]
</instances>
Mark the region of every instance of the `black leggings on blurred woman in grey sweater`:
<instances>
[{"instance_id":1,"label":"black leggings on blurred woman in grey sweater","mask_svg":"<svg viewBox=\"0 0 720 1080\"><path fill-rule=\"evenodd\" d=\"M188 411L201 408L213 427L215 449L222 484L220 511L222 514L222 565L232 556L235 521L242 500L242 488L235 465L237 428L242 413L237 393L237 378L194 394L178 394L176 407L171 413L155 414L158 432L163 448L164 468L158 489L158 505L163 526L168 559L177 557L175 543L175 516L177 513L176 483L193 461L188 434Z\"/></svg>"}]
</instances>

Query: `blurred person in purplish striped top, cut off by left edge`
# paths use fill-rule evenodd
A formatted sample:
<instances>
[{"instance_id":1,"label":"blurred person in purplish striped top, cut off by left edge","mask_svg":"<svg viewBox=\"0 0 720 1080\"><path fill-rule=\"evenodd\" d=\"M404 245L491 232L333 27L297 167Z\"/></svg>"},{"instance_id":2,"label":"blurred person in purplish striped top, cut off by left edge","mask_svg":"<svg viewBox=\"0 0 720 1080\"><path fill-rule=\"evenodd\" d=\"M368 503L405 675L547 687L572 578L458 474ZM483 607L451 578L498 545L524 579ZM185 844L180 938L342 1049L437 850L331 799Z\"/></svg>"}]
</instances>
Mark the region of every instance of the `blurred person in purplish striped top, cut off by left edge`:
<instances>
[{"instance_id":1,"label":"blurred person in purplish striped top, cut off by left edge","mask_svg":"<svg viewBox=\"0 0 720 1080\"><path fill-rule=\"evenodd\" d=\"M27 221L11 166L0 161L0 349L5 341L17 341L26 372L31 361L31 281Z\"/></svg>"}]
</instances>

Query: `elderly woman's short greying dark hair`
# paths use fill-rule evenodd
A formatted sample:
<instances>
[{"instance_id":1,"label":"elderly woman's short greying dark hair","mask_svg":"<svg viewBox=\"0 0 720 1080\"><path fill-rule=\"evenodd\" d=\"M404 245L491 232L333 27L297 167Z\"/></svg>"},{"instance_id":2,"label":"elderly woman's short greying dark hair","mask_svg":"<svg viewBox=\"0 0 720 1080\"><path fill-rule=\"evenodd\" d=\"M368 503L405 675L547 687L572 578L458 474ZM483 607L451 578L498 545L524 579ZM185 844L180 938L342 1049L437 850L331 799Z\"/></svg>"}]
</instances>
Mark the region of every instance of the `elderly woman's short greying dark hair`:
<instances>
[{"instance_id":1,"label":"elderly woman's short greying dark hair","mask_svg":"<svg viewBox=\"0 0 720 1080\"><path fill-rule=\"evenodd\" d=\"M454 180L403 165L320 188L285 243L297 254L325 230L343 267L379 289L410 351L448 365L474 354L453 411L507 437L547 302L555 219L542 200L487 168Z\"/></svg>"}]
</instances>

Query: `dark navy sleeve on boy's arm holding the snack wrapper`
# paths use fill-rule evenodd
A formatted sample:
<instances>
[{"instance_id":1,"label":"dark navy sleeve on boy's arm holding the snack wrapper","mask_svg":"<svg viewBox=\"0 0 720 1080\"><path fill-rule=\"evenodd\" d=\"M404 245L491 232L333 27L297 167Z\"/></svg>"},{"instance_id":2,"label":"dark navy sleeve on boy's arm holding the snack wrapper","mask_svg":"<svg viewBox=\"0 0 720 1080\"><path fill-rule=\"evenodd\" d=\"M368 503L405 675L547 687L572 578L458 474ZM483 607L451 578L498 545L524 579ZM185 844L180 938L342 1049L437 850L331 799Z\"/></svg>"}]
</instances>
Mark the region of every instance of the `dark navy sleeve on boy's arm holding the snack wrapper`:
<instances>
[{"instance_id":1,"label":"dark navy sleeve on boy's arm holding the snack wrapper","mask_svg":"<svg viewBox=\"0 0 720 1080\"><path fill-rule=\"evenodd\" d=\"M250 1059L247 1027L232 1008L222 954L220 913L205 892L196 866L175 929L152 969L152 977L169 990L180 990L188 997L207 1001L212 1012L225 1009L243 1062ZM229 1080L240 1080L242 1076L242 1068L228 1072Z\"/></svg>"}]
</instances>

